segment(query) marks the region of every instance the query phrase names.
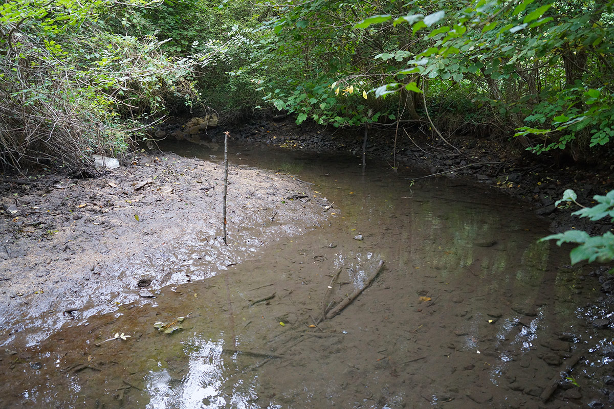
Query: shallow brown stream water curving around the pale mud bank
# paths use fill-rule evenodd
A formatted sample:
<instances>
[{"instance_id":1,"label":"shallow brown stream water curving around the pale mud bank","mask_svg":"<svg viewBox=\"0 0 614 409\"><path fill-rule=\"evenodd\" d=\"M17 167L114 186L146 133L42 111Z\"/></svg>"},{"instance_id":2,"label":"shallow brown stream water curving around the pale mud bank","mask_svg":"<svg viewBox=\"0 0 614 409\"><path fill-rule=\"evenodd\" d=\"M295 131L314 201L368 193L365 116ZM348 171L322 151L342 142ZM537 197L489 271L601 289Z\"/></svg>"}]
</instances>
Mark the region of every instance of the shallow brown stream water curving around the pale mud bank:
<instances>
[{"instance_id":1,"label":"shallow brown stream water curving around the pale mud bank","mask_svg":"<svg viewBox=\"0 0 614 409\"><path fill-rule=\"evenodd\" d=\"M253 147L232 158L314 183L328 221L151 304L3 351L0 406L556 408L597 394L607 362L584 354L608 334L586 325L594 284L559 267L567 253L537 242L546 225L523 204L456 179L411 186L410 169L386 164L363 175L355 158ZM549 392L579 354L581 388Z\"/></svg>"}]
</instances>

